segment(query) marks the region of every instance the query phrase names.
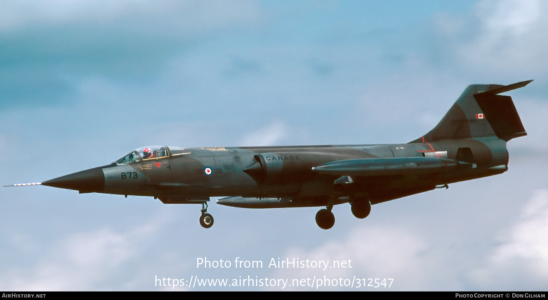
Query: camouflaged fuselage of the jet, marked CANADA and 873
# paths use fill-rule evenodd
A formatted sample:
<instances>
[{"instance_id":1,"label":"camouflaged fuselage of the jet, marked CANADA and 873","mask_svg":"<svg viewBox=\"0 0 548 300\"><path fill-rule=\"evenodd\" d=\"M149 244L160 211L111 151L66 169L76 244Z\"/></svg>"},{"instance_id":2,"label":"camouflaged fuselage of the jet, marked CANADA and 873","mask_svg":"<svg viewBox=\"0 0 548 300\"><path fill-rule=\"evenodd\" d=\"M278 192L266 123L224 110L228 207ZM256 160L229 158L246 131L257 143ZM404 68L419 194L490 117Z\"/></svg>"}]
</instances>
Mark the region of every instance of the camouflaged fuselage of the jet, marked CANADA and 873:
<instances>
[{"instance_id":1,"label":"camouflaged fuselage of the jet, marked CANADA and 873","mask_svg":"<svg viewBox=\"0 0 548 300\"><path fill-rule=\"evenodd\" d=\"M91 180L95 184L88 188L60 187L81 193L153 196L166 203L242 196L288 198L294 206L323 206L330 197L344 196L348 191L341 193L334 185L334 180L344 173L322 174L313 171L315 166L378 157L430 156L466 161L457 157L459 149L469 149L465 152L472 154L473 161L467 166L427 173L353 176L353 195L367 197L374 204L431 190L437 185L499 174L506 171L508 163L506 141L496 137L384 145L190 148L177 155L167 149L163 157L139 156L136 161L78 172L91 174L93 170L94 176L102 177ZM55 186L47 183L43 184Z\"/></svg>"}]
</instances>

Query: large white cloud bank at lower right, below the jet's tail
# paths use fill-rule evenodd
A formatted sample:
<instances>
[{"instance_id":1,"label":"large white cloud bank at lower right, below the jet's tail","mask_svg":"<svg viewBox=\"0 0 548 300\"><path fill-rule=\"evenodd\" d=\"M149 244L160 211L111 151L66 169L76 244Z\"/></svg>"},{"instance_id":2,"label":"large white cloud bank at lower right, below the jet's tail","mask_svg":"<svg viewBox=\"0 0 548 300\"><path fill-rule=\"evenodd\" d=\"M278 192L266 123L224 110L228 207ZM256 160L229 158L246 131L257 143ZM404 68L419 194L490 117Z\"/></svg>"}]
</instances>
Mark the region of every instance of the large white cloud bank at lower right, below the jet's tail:
<instances>
[{"instance_id":1,"label":"large white cloud bank at lower right, below the jet's tail","mask_svg":"<svg viewBox=\"0 0 548 300\"><path fill-rule=\"evenodd\" d=\"M418 229L418 228L417 228ZM470 230L465 240L478 236ZM537 190L523 205L518 222L499 230L498 241L476 248L439 248L439 230L416 231L382 223L361 225L342 241L327 241L311 250L292 248L282 261L345 261L352 268L281 268L272 278L394 279L390 290L544 290L548 282L548 190ZM477 233L482 236L483 233ZM483 237L481 237L483 239ZM489 247L489 245L494 247ZM356 277L354 277L356 276ZM355 281L356 283L357 281ZM369 283L366 280L367 283ZM273 287L276 289L277 287ZM288 286L286 289L309 289ZM319 287L347 290L348 286ZM371 288L371 287L365 287ZM363 289L363 287L362 287ZM378 290L379 288L372 288Z\"/></svg>"}]
</instances>

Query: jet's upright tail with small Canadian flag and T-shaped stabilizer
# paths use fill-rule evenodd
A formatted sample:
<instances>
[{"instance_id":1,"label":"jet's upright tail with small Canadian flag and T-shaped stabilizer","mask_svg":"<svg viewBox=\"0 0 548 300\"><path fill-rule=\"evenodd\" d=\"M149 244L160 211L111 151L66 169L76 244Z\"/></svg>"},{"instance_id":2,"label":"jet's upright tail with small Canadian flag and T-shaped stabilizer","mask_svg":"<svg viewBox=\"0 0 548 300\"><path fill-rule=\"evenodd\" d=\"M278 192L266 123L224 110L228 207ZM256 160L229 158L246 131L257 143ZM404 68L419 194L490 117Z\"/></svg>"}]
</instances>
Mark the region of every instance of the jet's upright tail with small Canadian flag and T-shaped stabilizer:
<instances>
[{"instance_id":1,"label":"jet's upright tail with small Canadian flag and T-shaped stabilizer","mask_svg":"<svg viewBox=\"0 0 548 300\"><path fill-rule=\"evenodd\" d=\"M447 139L499 137L509 141L527 135L510 96L498 95L527 86L528 81L500 84L471 84L429 133L410 143Z\"/></svg>"}]
</instances>

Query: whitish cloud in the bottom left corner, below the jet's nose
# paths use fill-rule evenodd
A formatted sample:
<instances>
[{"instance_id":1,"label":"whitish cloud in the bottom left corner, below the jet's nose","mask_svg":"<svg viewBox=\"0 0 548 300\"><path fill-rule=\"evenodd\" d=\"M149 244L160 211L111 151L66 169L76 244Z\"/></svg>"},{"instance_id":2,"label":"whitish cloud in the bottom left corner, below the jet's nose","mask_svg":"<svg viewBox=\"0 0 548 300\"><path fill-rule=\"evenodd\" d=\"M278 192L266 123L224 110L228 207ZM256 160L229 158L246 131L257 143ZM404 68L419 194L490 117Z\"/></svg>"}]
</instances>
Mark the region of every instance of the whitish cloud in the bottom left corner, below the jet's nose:
<instances>
[{"instance_id":1,"label":"whitish cloud in the bottom left corner, below the jet's nose","mask_svg":"<svg viewBox=\"0 0 548 300\"><path fill-rule=\"evenodd\" d=\"M43 257L32 268L4 270L0 277L2 288L12 291L123 288L126 278L119 272L131 269L130 262L139 260L146 252L146 247L139 245L140 240L157 229L154 223L125 233L103 228L67 236L48 246L49 251L34 245L32 248ZM129 281L137 280L135 276L132 274Z\"/></svg>"}]
</instances>

